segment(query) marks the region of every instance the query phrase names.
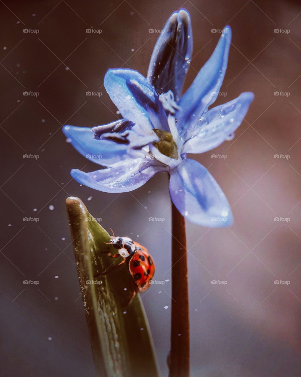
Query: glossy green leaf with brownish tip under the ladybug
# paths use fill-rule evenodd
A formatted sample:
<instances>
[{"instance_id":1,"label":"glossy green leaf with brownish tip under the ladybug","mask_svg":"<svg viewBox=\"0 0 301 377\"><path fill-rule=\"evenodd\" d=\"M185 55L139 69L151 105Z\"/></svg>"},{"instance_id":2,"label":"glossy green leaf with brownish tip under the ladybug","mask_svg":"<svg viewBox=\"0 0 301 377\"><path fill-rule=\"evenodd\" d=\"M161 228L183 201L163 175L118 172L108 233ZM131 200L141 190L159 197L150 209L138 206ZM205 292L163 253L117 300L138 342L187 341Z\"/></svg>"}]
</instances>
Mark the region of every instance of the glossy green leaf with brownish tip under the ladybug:
<instances>
[{"instance_id":1,"label":"glossy green leaf with brownish tip under the ladybug","mask_svg":"<svg viewBox=\"0 0 301 377\"><path fill-rule=\"evenodd\" d=\"M97 376L157 377L152 338L139 295L127 305L132 291L128 266L125 263L94 278L120 258L106 254L115 254L116 249L105 244L110 241L109 234L81 199L67 198L66 207ZM89 284L89 280L97 284Z\"/></svg>"}]
</instances>

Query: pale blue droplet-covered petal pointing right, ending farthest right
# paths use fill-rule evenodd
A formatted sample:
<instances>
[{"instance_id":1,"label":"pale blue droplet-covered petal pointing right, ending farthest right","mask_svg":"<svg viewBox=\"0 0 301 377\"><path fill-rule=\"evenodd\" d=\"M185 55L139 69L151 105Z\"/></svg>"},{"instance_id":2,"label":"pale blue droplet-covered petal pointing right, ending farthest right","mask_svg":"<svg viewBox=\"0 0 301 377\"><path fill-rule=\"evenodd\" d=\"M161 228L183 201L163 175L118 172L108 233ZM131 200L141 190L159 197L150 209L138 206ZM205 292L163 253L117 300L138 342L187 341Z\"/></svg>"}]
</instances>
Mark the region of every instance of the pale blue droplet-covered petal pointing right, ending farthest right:
<instances>
[{"instance_id":1,"label":"pale blue droplet-covered petal pointing right, ending farthest right","mask_svg":"<svg viewBox=\"0 0 301 377\"><path fill-rule=\"evenodd\" d=\"M207 152L233 138L253 100L254 94L245 92L233 101L213 107L203 118L195 118L183 134L187 141L182 153Z\"/></svg>"}]
</instances>

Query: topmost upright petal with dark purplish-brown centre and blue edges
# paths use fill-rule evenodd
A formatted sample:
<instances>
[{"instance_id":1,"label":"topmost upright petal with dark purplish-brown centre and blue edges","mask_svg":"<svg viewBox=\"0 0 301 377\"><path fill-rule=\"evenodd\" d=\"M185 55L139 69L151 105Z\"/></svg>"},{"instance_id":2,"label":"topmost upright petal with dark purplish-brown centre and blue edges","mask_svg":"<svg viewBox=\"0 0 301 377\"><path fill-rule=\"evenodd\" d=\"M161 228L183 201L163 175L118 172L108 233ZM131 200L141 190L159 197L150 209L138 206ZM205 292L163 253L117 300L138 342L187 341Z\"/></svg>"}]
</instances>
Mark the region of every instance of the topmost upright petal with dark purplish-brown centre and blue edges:
<instances>
[{"instance_id":1,"label":"topmost upright petal with dark purplish-brown centre and blue edges","mask_svg":"<svg viewBox=\"0 0 301 377\"><path fill-rule=\"evenodd\" d=\"M150 58L147 80L157 92L172 90L178 101L192 56L190 15L173 13L162 30Z\"/></svg>"}]
</instances>

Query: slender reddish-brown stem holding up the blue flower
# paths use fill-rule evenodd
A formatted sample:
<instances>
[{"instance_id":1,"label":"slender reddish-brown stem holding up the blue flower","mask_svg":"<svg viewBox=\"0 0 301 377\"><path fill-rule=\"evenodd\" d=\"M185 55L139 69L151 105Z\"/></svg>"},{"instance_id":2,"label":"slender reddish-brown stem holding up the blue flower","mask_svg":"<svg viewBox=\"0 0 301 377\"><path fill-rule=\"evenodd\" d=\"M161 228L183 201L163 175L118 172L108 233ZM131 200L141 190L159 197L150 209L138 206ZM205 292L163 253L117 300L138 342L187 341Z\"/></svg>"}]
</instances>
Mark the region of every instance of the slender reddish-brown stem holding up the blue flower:
<instances>
[{"instance_id":1,"label":"slender reddish-brown stem holding up the blue flower","mask_svg":"<svg viewBox=\"0 0 301 377\"><path fill-rule=\"evenodd\" d=\"M170 377L189 377L189 297L185 219L174 204L172 204L172 323L169 362Z\"/></svg>"}]
</instances>

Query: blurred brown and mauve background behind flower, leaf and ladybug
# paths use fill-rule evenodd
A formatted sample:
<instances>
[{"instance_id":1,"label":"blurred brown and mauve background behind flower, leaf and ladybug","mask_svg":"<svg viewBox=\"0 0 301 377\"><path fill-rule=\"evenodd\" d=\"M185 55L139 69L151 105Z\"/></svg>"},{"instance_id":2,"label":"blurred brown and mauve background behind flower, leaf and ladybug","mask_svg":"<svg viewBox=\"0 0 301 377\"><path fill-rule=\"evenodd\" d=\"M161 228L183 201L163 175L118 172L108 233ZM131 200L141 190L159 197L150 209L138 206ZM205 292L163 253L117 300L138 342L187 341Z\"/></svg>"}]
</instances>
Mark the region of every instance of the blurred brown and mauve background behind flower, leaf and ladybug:
<instances>
[{"instance_id":1,"label":"blurred brown and mauve background behind flower, leaf and ladybug","mask_svg":"<svg viewBox=\"0 0 301 377\"><path fill-rule=\"evenodd\" d=\"M194 39L184 90L213 52L219 29L229 24L228 70L215 104L243 91L255 93L236 137L195 156L226 194L234 225L214 229L187 222L191 375L301 375L300 3L4 0L2 376L95 376L65 211L68 196L81 198L103 227L138 240L154 257L155 278L164 284L153 285L142 300L161 372L167 375L167 176L157 174L140 189L120 195L81 187L70 170L89 172L97 166L66 143L61 128L119 118L103 87L106 70L130 67L146 75L159 35L155 29L181 7L191 14ZM101 32L87 33L91 27ZM87 96L87 91L102 94ZM164 220L151 222L150 217Z\"/></svg>"}]
</instances>

